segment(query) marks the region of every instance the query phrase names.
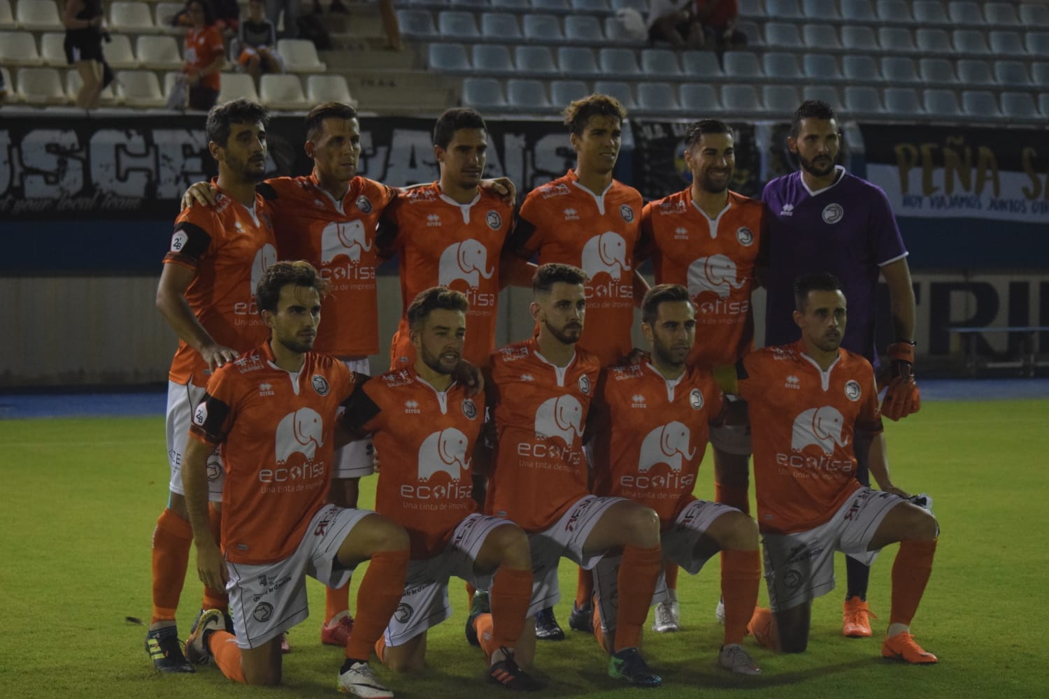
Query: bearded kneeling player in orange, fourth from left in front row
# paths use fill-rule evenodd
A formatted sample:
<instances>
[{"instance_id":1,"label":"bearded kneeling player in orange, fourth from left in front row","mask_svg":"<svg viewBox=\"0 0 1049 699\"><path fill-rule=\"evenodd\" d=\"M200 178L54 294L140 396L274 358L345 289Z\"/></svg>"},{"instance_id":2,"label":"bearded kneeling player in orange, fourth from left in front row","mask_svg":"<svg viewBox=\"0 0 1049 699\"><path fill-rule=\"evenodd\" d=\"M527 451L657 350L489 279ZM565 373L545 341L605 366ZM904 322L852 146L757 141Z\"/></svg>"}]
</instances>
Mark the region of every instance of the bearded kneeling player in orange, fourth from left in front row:
<instances>
[{"instance_id":1,"label":"bearded kneeling player in orange, fourth from left in front row","mask_svg":"<svg viewBox=\"0 0 1049 699\"><path fill-rule=\"evenodd\" d=\"M692 575L721 551L725 636L718 662L731 672L761 672L741 643L757 603L762 574L757 526L735 507L692 496L706 450L708 425L722 424L728 403L709 372L688 363L697 313L692 292L659 284L641 306L649 361L605 369L592 407L606 435L594 444L594 493L618 496L659 514L663 556ZM592 418L595 419L595 418ZM594 572L605 639L614 638L618 556L606 555ZM659 586L654 602L668 590ZM607 647L606 641L603 645Z\"/></svg>"}]
</instances>

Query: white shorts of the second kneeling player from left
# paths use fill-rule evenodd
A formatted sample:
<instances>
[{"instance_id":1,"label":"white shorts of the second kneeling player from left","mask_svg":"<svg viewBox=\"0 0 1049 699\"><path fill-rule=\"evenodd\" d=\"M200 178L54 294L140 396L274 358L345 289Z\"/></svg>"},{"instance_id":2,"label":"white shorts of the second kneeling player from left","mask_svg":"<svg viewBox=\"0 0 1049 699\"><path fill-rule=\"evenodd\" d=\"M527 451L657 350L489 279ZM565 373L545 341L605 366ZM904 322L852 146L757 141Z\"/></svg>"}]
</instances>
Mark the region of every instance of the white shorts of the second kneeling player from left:
<instances>
[{"instance_id":1,"label":"white shorts of the second kneeling player from left","mask_svg":"<svg viewBox=\"0 0 1049 699\"><path fill-rule=\"evenodd\" d=\"M451 541L442 553L408 564L404 596L386 627L387 646L402 646L452 615L448 602L448 581L452 575L478 590L491 587L492 575L477 575L473 566L488 534L506 524L513 522L498 517L470 515L455 527Z\"/></svg>"}]
</instances>

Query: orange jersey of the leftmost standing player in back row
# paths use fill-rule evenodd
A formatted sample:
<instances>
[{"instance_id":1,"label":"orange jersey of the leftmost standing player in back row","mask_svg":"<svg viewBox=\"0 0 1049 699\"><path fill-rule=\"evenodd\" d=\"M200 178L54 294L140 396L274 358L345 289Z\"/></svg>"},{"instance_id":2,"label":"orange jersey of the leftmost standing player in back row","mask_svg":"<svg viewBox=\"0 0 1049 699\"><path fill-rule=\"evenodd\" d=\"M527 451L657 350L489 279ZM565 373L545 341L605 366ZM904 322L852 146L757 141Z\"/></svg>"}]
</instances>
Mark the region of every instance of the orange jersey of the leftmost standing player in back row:
<instances>
[{"instance_id":1,"label":"orange jersey of the leftmost standing player in back row","mask_svg":"<svg viewBox=\"0 0 1049 699\"><path fill-rule=\"evenodd\" d=\"M190 206L175 219L165 264L196 272L186 301L197 321L219 345L245 352L270 335L255 305L262 272L277 261L270 210L255 195L254 211L219 190L214 206ZM208 365L178 341L168 378L176 384L208 384Z\"/></svg>"}]
</instances>

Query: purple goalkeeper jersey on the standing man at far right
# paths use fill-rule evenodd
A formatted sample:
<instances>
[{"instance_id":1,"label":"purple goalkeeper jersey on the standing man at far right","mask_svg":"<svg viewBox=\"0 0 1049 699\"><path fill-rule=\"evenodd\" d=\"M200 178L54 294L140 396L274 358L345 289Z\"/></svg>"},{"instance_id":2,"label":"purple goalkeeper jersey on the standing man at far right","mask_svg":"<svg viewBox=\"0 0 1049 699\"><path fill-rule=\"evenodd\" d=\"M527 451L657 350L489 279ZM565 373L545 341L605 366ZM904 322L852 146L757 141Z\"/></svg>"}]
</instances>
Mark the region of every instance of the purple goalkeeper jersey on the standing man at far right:
<instances>
[{"instance_id":1,"label":"purple goalkeeper jersey on the standing man at far right","mask_svg":"<svg viewBox=\"0 0 1049 699\"><path fill-rule=\"evenodd\" d=\"M812 192L795 172L766 184L762 201L769 226L765 344L788 345L801 336L792 316L794 280L829 271L841 282L849 305L841 346L877 366L880 268L907 254L885 193L838 166L838 178L828 188Z\"/></svg>"}]
</instances>

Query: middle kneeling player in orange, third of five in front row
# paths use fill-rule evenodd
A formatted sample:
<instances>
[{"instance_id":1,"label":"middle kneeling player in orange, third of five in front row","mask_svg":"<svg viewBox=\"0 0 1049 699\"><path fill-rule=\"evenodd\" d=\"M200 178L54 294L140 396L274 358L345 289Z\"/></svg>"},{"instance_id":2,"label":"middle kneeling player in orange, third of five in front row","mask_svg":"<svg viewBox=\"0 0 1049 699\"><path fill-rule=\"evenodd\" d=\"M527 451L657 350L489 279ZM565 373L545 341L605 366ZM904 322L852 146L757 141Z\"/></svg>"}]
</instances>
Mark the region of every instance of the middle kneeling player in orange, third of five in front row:
<instances>
[{"instance_id":1,"label":"middle kneeling player in orange, third of five in front row","mask_svg":"<svg viewBox=\"0 0 1049 699\"><path fill-rule=\"evenodd\" d=\"M557 604L561 556L590 570L609 549L622 547L608 674L658 686L662 680L638 645L662 566L659 516L587 488L581 442L601 363L576 346L586 315L586 275L578 267L544 264L533 289L530 310L538 334L492 357L487 386L497 456L486 511L529 533L535 574L530 616ZM529 633L517 645L518 662L530 667L534 654L535 637Z\"/></svg>"}]
</instances>

